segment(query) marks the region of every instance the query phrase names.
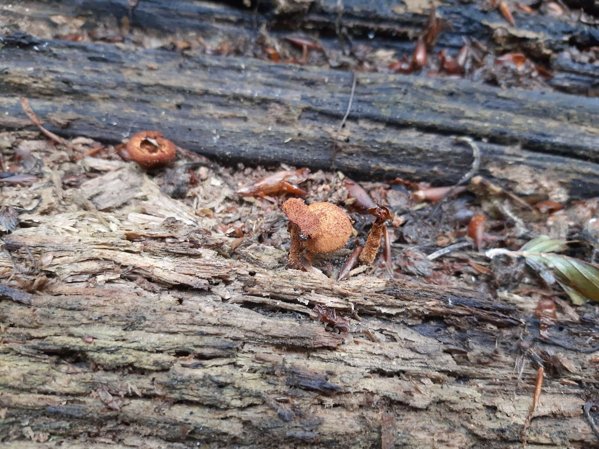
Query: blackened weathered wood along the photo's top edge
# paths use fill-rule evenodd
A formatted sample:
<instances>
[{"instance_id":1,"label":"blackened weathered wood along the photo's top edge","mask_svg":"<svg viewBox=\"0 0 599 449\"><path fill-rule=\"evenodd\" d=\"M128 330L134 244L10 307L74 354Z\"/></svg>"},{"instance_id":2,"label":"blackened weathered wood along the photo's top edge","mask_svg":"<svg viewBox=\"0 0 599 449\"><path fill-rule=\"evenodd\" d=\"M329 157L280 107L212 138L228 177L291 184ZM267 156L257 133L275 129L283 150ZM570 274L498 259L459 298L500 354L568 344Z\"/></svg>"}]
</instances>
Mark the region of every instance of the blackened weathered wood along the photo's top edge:
<instances>
[{"instance_id":1,"label":"blackened weathered wood along the photo's top edge","mask_svg":"<svg viewBox=\"0 0 599 449\"><path fill-rule=\"evenodd\" d=\"M581 4L576 0L566 3L572 8L585 7L597 13L591 1ZM262 25L274 37L293 32L318 34L327 48L340 49L335 35L337 24L347 29L354 45L365 44L374 49L392 48L410 53L413 40L422 30L430 5L418 0L404 2L372 2L344 0L340 8L337 0L260 0L251 7L241 2L197 2L182 0L174 6L170 0L141 0L129 13L129 0L31 1L20 10L12 8L16 20L43 22L58 28L49 17L86 17L84 28L104 23L107 17L120 23L131 18L131 25L147 31L164 34L197 32L206 41L234 38L253 40ZM599 45L599 27L562 17L524 14L515 11L516 27L510 27L497 10L487 10L479 2L448 1L437 4L437 11L449 23L437 41L436 50L455 53L463 45L462 36L481 41L495 53L524 51L537 62L543 62L555 72L549 84L565 92L599 95L599 65L576 63L562 54L570 46L588 48ZM576 17L576 12L573 14Z\"/></svg>"}]
</instances>

